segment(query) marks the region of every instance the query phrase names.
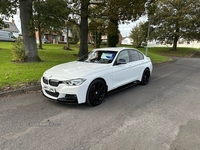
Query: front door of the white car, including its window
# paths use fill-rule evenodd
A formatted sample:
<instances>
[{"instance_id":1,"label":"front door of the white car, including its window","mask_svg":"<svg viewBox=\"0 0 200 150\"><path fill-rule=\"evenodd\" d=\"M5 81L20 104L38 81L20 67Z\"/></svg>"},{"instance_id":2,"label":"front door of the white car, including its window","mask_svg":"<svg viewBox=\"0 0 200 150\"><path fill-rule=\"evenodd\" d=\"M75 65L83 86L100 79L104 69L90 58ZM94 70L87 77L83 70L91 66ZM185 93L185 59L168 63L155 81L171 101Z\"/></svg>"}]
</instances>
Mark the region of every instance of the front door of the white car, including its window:
<instances>
[{"instance_id":1,"label":"front door of the white car, including its window","mask_svg":"<svg viewBox=\"0 0 200 150\"><path fill-rule=\"evenodd\" d=\"M117 56L113 66L113 73L112 73L113 88L117 88L119 86L122 86L130 82L132 77L130 74L129 67L130 64L129 64L128 51L123 50Z\"/></svg>"}]
</instances>

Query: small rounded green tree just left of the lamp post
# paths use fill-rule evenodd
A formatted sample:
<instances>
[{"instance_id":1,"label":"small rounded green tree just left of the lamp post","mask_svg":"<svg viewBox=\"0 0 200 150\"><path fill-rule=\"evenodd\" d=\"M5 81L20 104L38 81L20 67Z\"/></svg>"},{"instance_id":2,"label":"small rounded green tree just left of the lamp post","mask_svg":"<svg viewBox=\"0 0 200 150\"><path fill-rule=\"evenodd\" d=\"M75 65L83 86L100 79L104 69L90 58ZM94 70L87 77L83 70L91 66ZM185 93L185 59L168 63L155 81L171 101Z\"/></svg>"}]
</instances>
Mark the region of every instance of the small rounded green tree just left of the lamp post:
<instances>
[{"instance_id":1,"label":"small rounded green tree just left of the lamp post","mask_svg":"<svg viewBox=\"0 0 200 150\"><path fill-rule=\"evenodd\" d=\"M142 47L146 43L148 30L148 22L140 22L136 25L130 33L130 37L133 39L133 46L136 48Z\"/></svg>"}]
</instances>

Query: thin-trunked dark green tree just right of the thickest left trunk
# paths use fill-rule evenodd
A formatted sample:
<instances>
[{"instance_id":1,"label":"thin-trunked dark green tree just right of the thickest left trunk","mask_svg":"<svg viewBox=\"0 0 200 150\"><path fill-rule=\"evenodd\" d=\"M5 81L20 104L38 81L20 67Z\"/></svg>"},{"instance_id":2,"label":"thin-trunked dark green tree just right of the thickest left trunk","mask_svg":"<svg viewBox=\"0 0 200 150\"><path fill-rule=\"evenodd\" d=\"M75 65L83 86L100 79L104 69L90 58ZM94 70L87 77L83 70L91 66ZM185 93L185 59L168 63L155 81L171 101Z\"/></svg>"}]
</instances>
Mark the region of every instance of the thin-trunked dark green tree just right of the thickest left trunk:
<instances>
[{"instance_id":1,"label":"thin-trunked dark green tree just right of the thickest left trunk","mask_svg":"<svg viewBox=\"0 0 200 150\"><path fill-rule=\"evenodd\" d=\"M42 33L60 32L66 27L69 9L65 0L35 0L34 23L39 33L39 48L42 49Z\"/></svg>"}]
</instances>

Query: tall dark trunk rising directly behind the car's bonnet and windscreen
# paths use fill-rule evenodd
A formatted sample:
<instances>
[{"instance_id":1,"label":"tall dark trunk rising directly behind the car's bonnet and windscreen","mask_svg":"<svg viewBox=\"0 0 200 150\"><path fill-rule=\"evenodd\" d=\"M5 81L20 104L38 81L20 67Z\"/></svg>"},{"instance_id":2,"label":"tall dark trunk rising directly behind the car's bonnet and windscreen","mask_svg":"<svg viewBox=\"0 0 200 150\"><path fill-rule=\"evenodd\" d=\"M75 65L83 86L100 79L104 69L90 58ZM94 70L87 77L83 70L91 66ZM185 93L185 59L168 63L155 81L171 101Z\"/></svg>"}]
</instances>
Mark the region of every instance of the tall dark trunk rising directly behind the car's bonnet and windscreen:
<instances>
[{"instance_id":1,"label":"tall dark trunk rising directly behind the car's bonnet and windscreen","mask_svg":"<svg viewBox=\"0 0 200 150\"><path fill-rule=\"evenodd\" d=\"M88 5L89 0L81 0L81 23L80 23L80 49L78 56L88 53Z\"/></svg>"}]
</instances>

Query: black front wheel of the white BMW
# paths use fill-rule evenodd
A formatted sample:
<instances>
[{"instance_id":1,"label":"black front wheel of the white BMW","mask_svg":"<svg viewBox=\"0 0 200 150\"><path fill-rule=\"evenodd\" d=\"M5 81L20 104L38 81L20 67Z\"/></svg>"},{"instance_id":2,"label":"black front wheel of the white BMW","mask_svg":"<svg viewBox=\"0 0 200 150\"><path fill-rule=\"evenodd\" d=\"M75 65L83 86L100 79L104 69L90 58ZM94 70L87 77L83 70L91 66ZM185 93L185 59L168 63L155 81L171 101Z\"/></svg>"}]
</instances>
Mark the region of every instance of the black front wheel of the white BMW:
<instances>
[{"instance_id":1,"label":"black front wheel of the white BMW","mask_svg":"<svg viewBox=\"0 0 200 150\"><path fill-rule=\"evenodd\" d=\"M107 87L105 82L100 79L96 79L88 87L86 103L90 106L97 106L103 102L106 93Z\"/></svg>"}]
</instances>

